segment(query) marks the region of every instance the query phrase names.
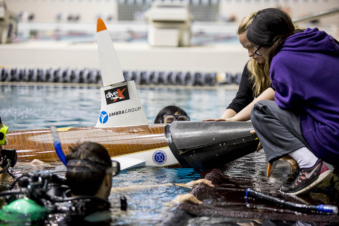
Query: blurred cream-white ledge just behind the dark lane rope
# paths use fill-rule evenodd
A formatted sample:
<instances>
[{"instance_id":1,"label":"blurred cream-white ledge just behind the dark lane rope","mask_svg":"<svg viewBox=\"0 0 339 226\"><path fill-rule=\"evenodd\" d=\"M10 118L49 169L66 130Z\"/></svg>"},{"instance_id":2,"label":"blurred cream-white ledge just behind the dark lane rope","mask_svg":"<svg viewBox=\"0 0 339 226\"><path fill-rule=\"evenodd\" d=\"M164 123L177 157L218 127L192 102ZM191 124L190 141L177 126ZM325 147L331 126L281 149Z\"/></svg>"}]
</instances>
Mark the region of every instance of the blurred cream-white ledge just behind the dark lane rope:
<instances>
[{"instance_id":1,"label":"blurred cream-white ledge just behind the dark lane rope","mask_svg":"<svg viewBox=\"0 0 339 226\"><path fill-rule=\"evenodd\" d=\"M124 70L242 72L248 60L240 43L152 47L145 42L114 43ZM96 42L28 41L0 45L4 67L100 68Z\"/></svg>"}]
</instances>

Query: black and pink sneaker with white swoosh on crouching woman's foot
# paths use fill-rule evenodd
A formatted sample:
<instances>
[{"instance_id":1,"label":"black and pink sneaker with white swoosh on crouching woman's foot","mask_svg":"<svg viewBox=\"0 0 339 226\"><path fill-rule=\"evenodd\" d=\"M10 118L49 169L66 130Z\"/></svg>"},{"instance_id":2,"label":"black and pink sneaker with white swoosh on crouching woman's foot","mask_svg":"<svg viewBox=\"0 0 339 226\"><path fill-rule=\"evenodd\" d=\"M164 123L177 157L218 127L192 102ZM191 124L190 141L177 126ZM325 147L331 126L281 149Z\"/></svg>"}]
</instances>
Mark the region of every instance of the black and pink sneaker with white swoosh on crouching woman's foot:
<instances>
[{"instance_id":1,"label":"black and pink sneaker with white swoosh on crouching woman's foot","mask_svg":"<svg viewBox=\"0 0 339 226\"><path fill-rule=\"evenodd\" d=\"M299 168L297 175L290 184L280 187L280 191L289 194L305 193L318 184L331 179L333 173L327 166L318 159L316 164L308 169Z\"/></svg>"}]
</instances>

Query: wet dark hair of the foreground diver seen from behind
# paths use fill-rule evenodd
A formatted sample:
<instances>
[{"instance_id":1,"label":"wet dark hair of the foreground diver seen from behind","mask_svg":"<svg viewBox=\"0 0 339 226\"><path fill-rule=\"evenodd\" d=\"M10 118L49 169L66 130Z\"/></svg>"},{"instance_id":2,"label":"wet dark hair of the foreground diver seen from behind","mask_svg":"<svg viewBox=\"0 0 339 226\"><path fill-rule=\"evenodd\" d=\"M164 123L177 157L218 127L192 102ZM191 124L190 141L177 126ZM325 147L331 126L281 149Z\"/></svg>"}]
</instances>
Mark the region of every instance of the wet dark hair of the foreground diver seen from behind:
<instances>
[{"instance_id":1,"label":"wet dark hair of the foreground diver seen from behind","mask_svg":"<svg viewBox=\"0 0 339 226\"><path fill-rule=\"evenodd\" d=\"M72 193L77 196L94 196L106 175L106 170L112 167L112 161L104 146L94 142L84 142L75 148L69 148L66 157L72 161L67 164L66 179Z\"/></svg>"}]
</instances>

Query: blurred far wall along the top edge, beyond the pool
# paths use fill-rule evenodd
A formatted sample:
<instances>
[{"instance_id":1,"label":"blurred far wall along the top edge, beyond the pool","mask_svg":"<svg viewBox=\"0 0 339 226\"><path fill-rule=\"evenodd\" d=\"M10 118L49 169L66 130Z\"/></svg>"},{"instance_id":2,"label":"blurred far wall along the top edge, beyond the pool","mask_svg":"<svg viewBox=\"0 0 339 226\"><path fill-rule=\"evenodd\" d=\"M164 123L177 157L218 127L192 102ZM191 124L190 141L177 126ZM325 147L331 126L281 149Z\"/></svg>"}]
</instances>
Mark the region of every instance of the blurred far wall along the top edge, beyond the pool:
<instances>
[{"instance_id":1,"label":"blurred far wall along the top edge, beyond the pool","mask_svg":"<svg viewBox=\"0 0 339 226\"><path fill-rule=\"evenodd\" d=\"M168 0L165 0L168 1ZM6 0L17 14L33 16L32 21L143 20L152 0ZM338 0L190 0L195 21L241 21L247 14L268 7L279 7L292 18L338 7ZM59 18L59 19L57 19ZM339 24L339 15L322 19L322 23Z\"/></svg>"}]
</instances>

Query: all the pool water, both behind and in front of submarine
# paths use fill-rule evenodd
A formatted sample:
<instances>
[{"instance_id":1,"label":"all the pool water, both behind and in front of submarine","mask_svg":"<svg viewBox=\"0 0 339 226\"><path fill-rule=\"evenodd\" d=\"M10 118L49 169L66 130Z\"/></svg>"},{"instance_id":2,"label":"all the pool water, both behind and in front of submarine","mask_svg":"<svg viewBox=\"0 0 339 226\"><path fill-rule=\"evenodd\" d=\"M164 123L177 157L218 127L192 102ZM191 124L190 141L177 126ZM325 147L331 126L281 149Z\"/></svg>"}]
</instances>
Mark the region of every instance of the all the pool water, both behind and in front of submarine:
<instances>
[{"instance_id":1,"label":"all the pool water, both behind and in front of submarine","mask_svg":"<svg viewBox=\"0 0 339 226\"><path fill-rule=\"evenodd\" d=\"M168 87L138 88L141 103L148 122L153 123L160 109L176 104L186 110L191 120L219 118L226 106L235 97L237 90L187 89ZM95 125L100 112L100 88L89 85L0 85L2 104L0 116L9 130L25 130L57 127L81 127ZM30 165L18 163L13 173L56 173L64 177L65 169L59 164ZM277 188L285 183L284 174L290 172L287 162L280 161L271 178L266 178L267 162L263 152L236 160L224 171L230 188L246 186L255 188ZM168 183L187 183L204 178L207 171L165 168L139 167L121 172L113 177L113 186L109 196L112 205L110 225L246 225L254 223L251 219L226 217L188 216L182 224L172 224L173 219L181 218L178 206L168 204L178 194L190 192L190 188L168 185ZM165 185L166 184L166 185ZM226 186L226 185L225 185ZM244 192L240 192L237 202L227 201L227 197L202 200L202 205L212 205L218 201L222 206L247 208ZM120 197L127 198L127 211L120 210ZM226 200L225 200L226 199ZM307 200L307 199L305 199ZM326 199L317 198L321 202ZM306 201L303 201L306 202ZM240 206L240 207L239 207ZM178 212L179 211L179 212ZM187 215L186 215L187 218ZM287 219L286 219L287 220ZM261 222L263 220L258 220ZM62 222L59 225L63 225ZM106 224L103 224L106 225ZM306 225L309 225L306 223Z\"/></svg>"}]
</instances>

